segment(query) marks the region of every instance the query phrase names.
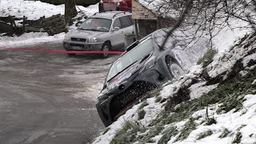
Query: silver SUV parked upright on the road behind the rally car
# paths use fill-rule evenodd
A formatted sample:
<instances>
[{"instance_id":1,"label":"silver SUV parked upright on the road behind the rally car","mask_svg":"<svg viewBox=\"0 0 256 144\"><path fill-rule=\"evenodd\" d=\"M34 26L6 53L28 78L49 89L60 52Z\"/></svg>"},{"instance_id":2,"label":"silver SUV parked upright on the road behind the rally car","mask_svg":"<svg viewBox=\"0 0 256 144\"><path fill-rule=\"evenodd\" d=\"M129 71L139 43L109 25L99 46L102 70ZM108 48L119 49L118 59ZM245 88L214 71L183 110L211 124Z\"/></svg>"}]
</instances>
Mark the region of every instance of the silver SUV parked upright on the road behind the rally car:
<instances>
[{"instance_id":1,"label":"silver SUV parked upright on the road behind the rally car","mask_svg":"<svg viewBox=\"0 0 256 144\"><path fill-rule=\"evenodd\" d=\"M63 46L66 51L124 50L124 34L133 31L134 24L130 12L96 13L87 18L77 30L68 32ZM102 54L103 58L108 56L109 54Z\"/></svg>"}]
</instances>

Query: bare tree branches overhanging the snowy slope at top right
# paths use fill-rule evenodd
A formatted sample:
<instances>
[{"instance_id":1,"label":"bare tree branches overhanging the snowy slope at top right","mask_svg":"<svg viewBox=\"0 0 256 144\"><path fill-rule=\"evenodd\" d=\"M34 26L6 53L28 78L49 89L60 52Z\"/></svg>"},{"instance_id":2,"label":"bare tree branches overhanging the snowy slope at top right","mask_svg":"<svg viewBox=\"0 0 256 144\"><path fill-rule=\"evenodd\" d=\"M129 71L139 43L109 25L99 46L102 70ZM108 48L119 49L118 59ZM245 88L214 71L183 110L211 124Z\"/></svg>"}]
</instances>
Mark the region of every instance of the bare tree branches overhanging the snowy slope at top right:
<instances>
[{"instance_id":1,"label":"bare tree branches overhanging the snowy slope at top right","mask_svg":"<svg viewBox=\"0 0 256 144\"><path fill-rule=\"evenodd\" d=\"M256 30L255 0L138 0L154 14L175 20L168 36L174 31L186 43L197 41L202 35L210 38L225 28ZM247 26L232 26L231 22L247 22ZM251 29L253 28L253 29ZM182 34L181 34L182 33ZM211 41L210 41L211 42Z\"/></svg>"}]
</instances>

